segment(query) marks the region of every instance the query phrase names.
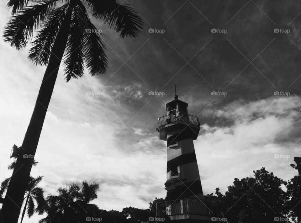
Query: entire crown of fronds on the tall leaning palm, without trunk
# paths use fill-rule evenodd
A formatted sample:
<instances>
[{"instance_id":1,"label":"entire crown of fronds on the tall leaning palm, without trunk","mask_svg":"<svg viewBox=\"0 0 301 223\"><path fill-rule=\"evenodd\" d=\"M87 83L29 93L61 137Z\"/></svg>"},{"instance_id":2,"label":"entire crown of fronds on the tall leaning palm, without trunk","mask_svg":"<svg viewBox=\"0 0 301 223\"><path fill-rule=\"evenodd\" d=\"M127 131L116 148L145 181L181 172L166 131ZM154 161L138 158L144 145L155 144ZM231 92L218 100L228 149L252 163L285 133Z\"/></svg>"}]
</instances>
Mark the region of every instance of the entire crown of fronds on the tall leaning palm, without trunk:
<instances>
[{"instance_id":1,"label":"entire crown of fronds on the tall leaning palm, without trunk","mask_svg":"<svg viewBox=\"0 0 301 223\"><path fill-rule=\"evenodd\" d=\"M7 5L12 8L13 16L4 28L4 41L18 50L31 43L29 60L37 65L49 62L55 37L67 9L72 8L63 57L67 82L71 78L82 77L84 65L92 76L105 73L108 67L102 31L91 23L88 10L119 33L121 38L137 37L143 25L134 8L116 0L10 0ZM32 40L35 31L38 33Z\"/></svg>"}]
</instances>

